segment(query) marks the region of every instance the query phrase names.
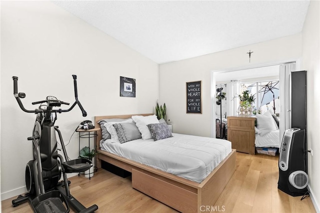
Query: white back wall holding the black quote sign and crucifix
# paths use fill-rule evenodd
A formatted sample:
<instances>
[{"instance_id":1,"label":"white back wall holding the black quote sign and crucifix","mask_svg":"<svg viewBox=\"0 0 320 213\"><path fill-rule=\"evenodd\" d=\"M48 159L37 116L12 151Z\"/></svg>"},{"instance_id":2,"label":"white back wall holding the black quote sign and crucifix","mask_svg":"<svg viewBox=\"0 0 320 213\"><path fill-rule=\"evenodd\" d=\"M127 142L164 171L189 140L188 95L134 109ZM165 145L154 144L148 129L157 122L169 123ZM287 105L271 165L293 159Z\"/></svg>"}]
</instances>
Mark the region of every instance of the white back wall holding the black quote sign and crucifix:
<instances>
[{"instance_id":1,"label":"white back wall holding the black quote sign and crucifix","mask_svg":"<svg viewBox=\"0 0 320 213\"><path fill-rule=\"evenodd\" d=\"M248 50L253 51L249 63ZM159 97L174 132L210 136L211 71L257 66L301 57L301 33L159 65ZM185 82L202 80L202 114L185 113Z\"/></svg>"}]
</instances>

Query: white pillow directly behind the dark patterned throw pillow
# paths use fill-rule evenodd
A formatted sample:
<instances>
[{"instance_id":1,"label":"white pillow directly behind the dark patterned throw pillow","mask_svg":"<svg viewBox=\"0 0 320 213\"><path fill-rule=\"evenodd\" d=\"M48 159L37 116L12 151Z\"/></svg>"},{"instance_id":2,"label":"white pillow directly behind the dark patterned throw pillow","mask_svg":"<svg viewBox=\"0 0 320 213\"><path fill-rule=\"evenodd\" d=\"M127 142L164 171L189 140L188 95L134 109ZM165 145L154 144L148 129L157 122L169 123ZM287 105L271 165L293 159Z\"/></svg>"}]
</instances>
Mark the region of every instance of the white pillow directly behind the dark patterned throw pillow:
<instances>
[{"instance_id":1,"label":"white pillow directly behind the dark patterned throw pillow","mask_svg":"<svg viewBox=\"0 0 320 213\"><path fill-rule=\"evenodd\" d=\"M149 116L132 115L131 118L134 120L136 126L141 132L142 139L145 140L145 139L152 138L149 128L147 127L147 124L159 123L158 118L154 114Z\"/></svg>"}]
</instances>

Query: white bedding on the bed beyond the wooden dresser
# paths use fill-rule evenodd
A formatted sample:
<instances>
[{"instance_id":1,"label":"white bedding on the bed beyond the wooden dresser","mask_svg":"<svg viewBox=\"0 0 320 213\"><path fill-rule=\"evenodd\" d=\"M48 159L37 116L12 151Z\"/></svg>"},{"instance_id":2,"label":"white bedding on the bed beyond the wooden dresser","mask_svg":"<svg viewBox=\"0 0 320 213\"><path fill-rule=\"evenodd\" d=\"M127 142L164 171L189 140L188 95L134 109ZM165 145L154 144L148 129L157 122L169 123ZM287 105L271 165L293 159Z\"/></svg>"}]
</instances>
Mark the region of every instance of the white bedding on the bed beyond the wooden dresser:
<instances>
[{"instance_id":1,"label":"white bedding on the bed beyond the wooden dresser","mask_svg":"<svg viewBox=\"0 0 320 213\"><path fill-rule=\"evenodd\" d=\"M263 136L255 133L255 147L280 147L279 130L270 131Z\"/></svg>"}]
</instances>

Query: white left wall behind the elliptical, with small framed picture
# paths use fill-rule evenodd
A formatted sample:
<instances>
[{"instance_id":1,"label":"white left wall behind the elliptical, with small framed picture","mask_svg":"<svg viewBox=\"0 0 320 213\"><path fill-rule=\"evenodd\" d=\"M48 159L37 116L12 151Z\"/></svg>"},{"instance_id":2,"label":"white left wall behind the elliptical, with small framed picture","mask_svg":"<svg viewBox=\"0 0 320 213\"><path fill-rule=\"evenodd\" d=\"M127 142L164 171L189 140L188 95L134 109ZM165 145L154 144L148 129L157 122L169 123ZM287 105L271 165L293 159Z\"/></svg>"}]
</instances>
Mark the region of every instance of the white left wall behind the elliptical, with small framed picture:
<instances>
[{"instance_id":1,"label":"white left wall behind the elliptical, with small framed picture","mask_svg":"<svg viewBox=\"0 0 320 213\"><path fill-rule=\"evenodd\" d=\"M26 108L54 95L74 102L73 80L87 111L76 106L58 114L67 142L80 121L95 115L152 113L158 99L158 64L64 11L50 1L1 1L1 200L25 191L24 169L32 159L35 115L25 113L13 97L13 75ZM119 76L136 79L136 97L119 96ZM67 146L78 156L78 137ZM83 141L84 146L86 142Z\"/></svg>"}]
</instances>

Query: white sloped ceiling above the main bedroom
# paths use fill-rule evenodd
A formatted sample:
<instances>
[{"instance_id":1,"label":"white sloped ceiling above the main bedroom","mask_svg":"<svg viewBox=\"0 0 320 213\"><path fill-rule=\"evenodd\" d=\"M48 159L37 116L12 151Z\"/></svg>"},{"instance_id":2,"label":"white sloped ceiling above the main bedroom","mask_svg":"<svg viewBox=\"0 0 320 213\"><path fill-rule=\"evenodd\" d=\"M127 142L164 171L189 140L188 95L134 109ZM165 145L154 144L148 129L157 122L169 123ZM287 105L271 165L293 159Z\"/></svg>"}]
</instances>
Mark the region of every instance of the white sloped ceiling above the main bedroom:
<instances>
[{"instance_id":1,"label":"white sloped ceiling above the main bedroom","mask_svg":"<svg viewBox=\"0 0 320 213\"><path fill-rule=\"evenodd\" d=\"M53 1L157 63L302 30L309 0Z\"/></svg>"}]
</instances>

